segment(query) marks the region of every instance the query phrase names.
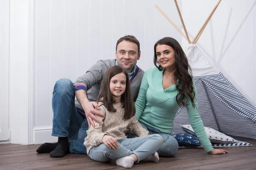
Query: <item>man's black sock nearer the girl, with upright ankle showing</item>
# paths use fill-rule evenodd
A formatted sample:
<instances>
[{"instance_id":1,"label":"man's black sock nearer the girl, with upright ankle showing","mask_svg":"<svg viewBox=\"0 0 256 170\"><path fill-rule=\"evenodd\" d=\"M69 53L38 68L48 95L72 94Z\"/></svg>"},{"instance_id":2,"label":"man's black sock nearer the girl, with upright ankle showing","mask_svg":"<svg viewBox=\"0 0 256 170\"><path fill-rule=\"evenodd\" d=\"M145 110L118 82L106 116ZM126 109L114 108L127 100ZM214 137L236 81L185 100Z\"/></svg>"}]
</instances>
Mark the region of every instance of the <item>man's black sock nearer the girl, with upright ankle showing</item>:
<instances>
[{"instance_id":1,"label":"man's black sock nearer the girl, with upright ankle showing","mask_svg":"<svg viewBox=\"0 0 256 170\"><path fill-rule=\"evenodd\" d=\"M52 152L50 152L50 156L52 158L62 158L66 153L69 152L69 142L67 137L58 137L58 144Z\"/></svg>"}]
</instances>

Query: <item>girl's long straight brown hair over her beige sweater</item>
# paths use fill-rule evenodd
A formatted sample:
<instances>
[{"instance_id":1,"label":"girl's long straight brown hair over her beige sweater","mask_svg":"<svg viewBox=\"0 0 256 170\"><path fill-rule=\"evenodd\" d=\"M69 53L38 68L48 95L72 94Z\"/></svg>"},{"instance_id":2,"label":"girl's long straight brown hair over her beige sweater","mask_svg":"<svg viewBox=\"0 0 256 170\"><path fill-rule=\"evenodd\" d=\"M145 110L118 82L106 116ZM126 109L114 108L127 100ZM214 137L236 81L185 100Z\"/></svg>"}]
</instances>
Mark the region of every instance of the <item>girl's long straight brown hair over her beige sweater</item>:
<instances>
[{"instance_id":1,"label":"girl's long straight brown hair over her beige sweater","mask_svg":"<svg viewBox=\"0 0 256 170\"><path fill-rule=\"evenodd\" d=\"M125 74L125 77L126 77L125 92L121 95L121 103L125 111L124 119L130 119L135 115L135 105L134 105L134 100L131 97L129 77L124 68L118 65L108 68L108 70L105 72L104 77L102 79L102 92L99 95L97 102L102 102L103 105L108 109L108 111L116 112L116 109L113 107L113 104L116 101L113 94L111 94L109 90L109 83L112 77L120 73Z\"/></svg>"}]
</instances>

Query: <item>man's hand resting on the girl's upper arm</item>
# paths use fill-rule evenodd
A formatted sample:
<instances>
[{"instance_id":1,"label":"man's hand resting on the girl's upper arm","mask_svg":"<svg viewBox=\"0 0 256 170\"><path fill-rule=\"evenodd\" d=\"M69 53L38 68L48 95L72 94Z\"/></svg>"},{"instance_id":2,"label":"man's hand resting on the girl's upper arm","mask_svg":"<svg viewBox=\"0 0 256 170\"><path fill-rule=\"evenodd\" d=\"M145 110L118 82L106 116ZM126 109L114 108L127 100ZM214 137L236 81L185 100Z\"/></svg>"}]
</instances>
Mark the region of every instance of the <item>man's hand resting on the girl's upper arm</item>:
<instances>
[{"instance_id":1,"label":"man's hand resting on the girl's upper arm","mask_svg":"<svg viewBox=\"0 0 256 170\"><path fill-rule=\"evenodd\" d=\"M96 118L95 115L101 116L101 117L105 117L105 116L104 114L99 113L98 111L95 110L95 108L98 110L100 109L99 105L96 102L85 101L82 103L82 108L84 109L84 113L85 113L89 128L90 128L90 125L93 125L93 127L95 127L93 120L98 122L100 125L102 124L102 122L98 118Z\"/></svg>"}]
</instances>

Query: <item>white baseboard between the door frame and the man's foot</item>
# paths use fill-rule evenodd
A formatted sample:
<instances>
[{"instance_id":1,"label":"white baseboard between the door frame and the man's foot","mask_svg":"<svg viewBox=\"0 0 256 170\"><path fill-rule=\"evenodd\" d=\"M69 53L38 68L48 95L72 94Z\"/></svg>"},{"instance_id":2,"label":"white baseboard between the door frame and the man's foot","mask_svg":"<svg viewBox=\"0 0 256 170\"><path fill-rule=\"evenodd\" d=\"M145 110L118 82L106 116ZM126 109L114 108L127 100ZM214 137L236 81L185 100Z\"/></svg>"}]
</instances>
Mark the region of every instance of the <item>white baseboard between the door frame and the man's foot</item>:
<instances>
[{"instance_id":1,"label":"white baseboard between the door frame and the man's foot","mask_svg":"<svg viewBox=\"0 0 256 170\"><path fill-rule=\"evenodd\" d=\"M52 136L52 126L34 128L34 144L58 142L58 137Z\"/></svg>"}]
</instances>

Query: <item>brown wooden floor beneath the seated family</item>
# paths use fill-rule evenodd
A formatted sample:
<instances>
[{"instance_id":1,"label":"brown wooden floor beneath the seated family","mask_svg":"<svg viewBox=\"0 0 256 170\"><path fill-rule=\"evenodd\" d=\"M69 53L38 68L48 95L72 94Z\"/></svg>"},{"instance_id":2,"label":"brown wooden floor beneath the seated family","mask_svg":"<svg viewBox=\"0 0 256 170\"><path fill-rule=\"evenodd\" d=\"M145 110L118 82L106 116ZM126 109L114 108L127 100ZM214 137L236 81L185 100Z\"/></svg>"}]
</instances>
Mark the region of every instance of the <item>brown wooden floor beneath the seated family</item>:
<instances>
[{"instance_id":1,"label":"brown wooden floor beneath the seated family","mask_svg":"<svg viewBox=\"0 0 256 170\"><path fill-rule=\"evenodd\" d=\"M179 148L173 158L160 158L158 163L140 162L133 170L256 170L256 140L251 147L221 147L230 153L208 155L202 148ZM0 170L124 170L115 162L102 163L83 154L67 154L51 158L49 153L38 154L39 145L0 144Z\"/></svg>"}]
</instances>

